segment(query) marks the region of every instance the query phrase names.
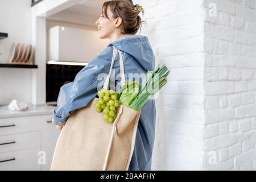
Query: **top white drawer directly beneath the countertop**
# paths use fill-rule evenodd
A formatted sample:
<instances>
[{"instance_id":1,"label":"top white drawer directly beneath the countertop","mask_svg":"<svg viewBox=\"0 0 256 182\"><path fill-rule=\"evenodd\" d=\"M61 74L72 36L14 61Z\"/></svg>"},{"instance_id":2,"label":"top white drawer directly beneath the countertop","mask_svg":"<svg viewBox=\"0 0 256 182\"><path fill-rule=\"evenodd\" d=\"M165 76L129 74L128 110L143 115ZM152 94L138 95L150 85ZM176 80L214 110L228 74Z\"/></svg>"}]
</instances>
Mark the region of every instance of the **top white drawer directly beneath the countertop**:
<instances>
[{"instance_id":1,"label":"top white drawer directly beneath the countertop","mask_svg":"<svg viewBox=\"0 0 256 182\"><path fill-rule=\"evenodd\" d=\"M40 130L40 116L0 119L0 136Z\"/></svg>"}]
</instances>

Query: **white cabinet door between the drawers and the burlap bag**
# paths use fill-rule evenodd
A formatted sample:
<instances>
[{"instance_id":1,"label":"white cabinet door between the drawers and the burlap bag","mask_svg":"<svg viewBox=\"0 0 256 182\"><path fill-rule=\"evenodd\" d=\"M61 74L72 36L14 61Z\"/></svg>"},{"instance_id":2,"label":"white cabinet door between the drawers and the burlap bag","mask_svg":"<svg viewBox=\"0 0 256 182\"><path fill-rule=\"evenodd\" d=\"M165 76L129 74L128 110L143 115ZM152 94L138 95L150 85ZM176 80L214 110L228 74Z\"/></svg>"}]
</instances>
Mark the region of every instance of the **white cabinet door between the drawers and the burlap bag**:
<instances>
[{"instance_id":1,"label":"white cabinet door between the drawers and the burlap bag","mask_svg":"<svg viewBox=\"0 0 256 182\"><path fill-rule=\"evenodd\" d=\"M46 171L51 168L51 162L59 131L52 122L52 115L42 115L41 131L42 131L42 151L46 152L46 164L42 164L42 170Z\"/></svg>"}]
</instances>

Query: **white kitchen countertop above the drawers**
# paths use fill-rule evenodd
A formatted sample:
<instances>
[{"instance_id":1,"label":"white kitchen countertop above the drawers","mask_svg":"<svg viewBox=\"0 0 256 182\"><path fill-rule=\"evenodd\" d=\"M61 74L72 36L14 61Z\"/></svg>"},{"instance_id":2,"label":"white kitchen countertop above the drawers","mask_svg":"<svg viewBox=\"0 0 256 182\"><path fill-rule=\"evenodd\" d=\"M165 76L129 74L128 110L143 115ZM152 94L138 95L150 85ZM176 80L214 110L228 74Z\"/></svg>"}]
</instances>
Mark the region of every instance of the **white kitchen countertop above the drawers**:
<instances>
[{"instance_id":1,"label":"white kitchen countertop above the drawers","mask_svg":"<svg viewBox=\"0 0 256 182\"><path fill-rule=\"evenodd\" d=\"M24 111L10 110L8 106L0 106L0 118L24 117L28 115L53 115L54 110L55 106L49 105L30 105L30 107Z\"/></svg>"}]
</instances>

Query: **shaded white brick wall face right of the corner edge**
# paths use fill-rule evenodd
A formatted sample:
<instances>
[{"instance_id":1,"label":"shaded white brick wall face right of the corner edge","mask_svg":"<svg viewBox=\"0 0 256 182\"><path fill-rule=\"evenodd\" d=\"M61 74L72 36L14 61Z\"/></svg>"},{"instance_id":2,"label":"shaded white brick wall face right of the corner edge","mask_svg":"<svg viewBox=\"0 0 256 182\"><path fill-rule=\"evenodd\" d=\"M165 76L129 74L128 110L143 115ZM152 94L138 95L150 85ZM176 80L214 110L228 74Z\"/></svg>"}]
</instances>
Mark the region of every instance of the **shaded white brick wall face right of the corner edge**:
<instances>
[{"instance_id":1,"label":"shaded white brick wall face right of the corner edge","mask_svg":"<svg viewBox=\"0 0 256 182\"><path fill-rule=\"evenodd\" d=\"M204 22L205 103L219 102L205 105L205 126L218 131L205 136L204 169L256 170L255 2L204 1L206 11L209 3L217 7L217 16ZM220 157L216 165L208 163L210 151Z\"/></svg>"}]
</instances>

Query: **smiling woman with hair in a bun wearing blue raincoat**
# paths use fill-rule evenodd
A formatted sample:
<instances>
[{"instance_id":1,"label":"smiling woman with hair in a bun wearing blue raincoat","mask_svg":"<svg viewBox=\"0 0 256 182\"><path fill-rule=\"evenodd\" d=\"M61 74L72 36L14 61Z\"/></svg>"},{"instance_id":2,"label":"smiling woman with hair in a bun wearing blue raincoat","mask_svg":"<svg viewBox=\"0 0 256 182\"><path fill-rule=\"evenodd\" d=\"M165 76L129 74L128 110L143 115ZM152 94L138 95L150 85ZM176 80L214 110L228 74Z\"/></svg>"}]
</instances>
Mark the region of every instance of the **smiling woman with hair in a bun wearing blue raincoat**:
<instances>
[{"instance_id":1,"label":"smiling woman with hair in a bun wearing blue raincoat","mask_svg":"<svg viewBox=\"0 0 256 182\"><path fill-rule=\"evenodd\" d=\"M130 73L142 74L154 70L155 56L148 38L135 35L142 23L138 15L141 11L143 12L141 6L134 6L129 0L104 3L101 17L96 25L100 38L109 39L110 44L76 75L73 82L61 87L52 119L59 131L73 111L88 105L97 96L97 88L102 87L102 81L98 80L97 76L101 73L109 73L112 47L122 52L126 78ZM118 55L113 68L115 73L120 73ZM116 88L119 88L120 81L116 80L115 84ZM155 101L149 100L142 108L139 118L129 170L151 170L154 136Z\"/></svg>"}]
</instances>

